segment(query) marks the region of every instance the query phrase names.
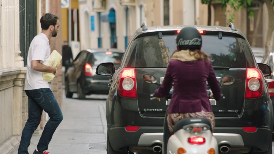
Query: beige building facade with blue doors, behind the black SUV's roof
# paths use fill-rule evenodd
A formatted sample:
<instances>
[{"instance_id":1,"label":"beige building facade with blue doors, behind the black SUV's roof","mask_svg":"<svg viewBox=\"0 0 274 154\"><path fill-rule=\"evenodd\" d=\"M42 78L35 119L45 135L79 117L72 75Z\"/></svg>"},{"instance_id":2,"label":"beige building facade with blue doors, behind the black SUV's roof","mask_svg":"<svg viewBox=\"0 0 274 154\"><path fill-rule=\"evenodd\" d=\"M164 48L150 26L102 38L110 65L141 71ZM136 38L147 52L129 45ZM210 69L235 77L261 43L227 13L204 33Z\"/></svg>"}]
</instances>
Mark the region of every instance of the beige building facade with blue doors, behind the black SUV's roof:
<instances>
[{"instance_id":1,"label":"beige building facade with blue doors, behind the black SUV's roof","mask_svg":"<svg viewBox=\"0 0 274 154\"><path fill-rule=\"evenodd\" d=\"M111 48L125 49L128 41L141 23L155 25L207 25L208 6L201 0L78 0L80 49ZM254 47L264 47L267 32L267 9L254 3L248 6L254 10L249 19L245 9L236 12L233 24L253 42ZM220 2L211 4L211 25L228 26L228 7ZM258 14L260 17L258 18ZM256 25L258 19L262 21ZM258 32L254 34L255 27ZM265 30L263 30L265 29ZM273 41L272 41L273 42ZM250 43L251 44L251 43ZM270 45L274 49L273 45Z\"/></svg>"}]
</instances>

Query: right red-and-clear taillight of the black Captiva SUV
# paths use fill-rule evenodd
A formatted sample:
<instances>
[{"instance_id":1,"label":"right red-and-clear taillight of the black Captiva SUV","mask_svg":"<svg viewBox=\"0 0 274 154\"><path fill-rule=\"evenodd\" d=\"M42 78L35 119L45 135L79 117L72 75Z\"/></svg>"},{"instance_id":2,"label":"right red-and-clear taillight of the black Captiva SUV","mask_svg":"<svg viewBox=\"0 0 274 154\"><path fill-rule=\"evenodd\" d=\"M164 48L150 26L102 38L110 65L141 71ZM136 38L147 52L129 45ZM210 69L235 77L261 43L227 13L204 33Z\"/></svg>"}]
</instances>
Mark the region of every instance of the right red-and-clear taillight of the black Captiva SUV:
<instances>
[{"instance_id":1,"label":"right red-and-clear taillight of the black Captiva SUV","mask_svg":"<svg viewBox=\"0 0 274 154\"><path fill-rule=\"evenodd\" d=\"M246 69L246 99L258 98L263 95L263 82L258 69Z\"/></svg>"}]
</instances>

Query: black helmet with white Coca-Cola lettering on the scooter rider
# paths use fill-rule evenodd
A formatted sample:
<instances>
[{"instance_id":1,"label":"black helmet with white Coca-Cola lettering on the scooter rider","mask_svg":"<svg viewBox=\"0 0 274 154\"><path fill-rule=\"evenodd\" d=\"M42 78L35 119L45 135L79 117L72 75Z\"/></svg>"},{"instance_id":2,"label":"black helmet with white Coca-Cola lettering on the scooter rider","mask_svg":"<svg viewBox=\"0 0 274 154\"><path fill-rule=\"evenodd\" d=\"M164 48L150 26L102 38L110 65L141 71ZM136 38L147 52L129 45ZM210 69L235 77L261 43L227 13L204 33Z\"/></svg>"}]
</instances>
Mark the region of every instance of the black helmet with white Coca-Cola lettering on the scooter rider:
<instances>
[{"instance_id":1,"label":"black helmet with white Coca-Cola lettering on the scooter rider","mask_svg":"<svg viewBox=\"0 0 274 154\"><path fill-rule=\"evenodd\" d=\"M195 50L202 47L202 36L194 27L185 27L181 29L176 37L176 45L180 50Z\"/></svg>"}]
</instances>

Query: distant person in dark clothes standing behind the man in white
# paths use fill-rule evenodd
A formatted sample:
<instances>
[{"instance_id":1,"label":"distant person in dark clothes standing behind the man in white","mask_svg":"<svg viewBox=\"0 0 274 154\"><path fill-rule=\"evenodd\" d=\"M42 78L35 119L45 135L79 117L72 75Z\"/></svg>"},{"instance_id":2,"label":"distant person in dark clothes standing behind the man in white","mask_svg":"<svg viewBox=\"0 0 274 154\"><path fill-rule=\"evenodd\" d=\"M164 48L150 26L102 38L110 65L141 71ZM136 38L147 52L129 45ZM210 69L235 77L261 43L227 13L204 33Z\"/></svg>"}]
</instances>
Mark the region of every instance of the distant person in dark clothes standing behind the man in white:
<instances>
[{"instance_id":1,"label":"distant person in dark clothes standing behind the man in white","mask_svg":"<svg viewBox=\"0 0 274 154\"><path fill-rule=\"evenodd\" d=\"M67 72L67 69L69 66L71 66L73 61L73 55L72 55L72 49L68 45L68 41L64 40L63 46L62 46L62 66L65 66L65 73Z\"/></svg>"}]
</instances>

